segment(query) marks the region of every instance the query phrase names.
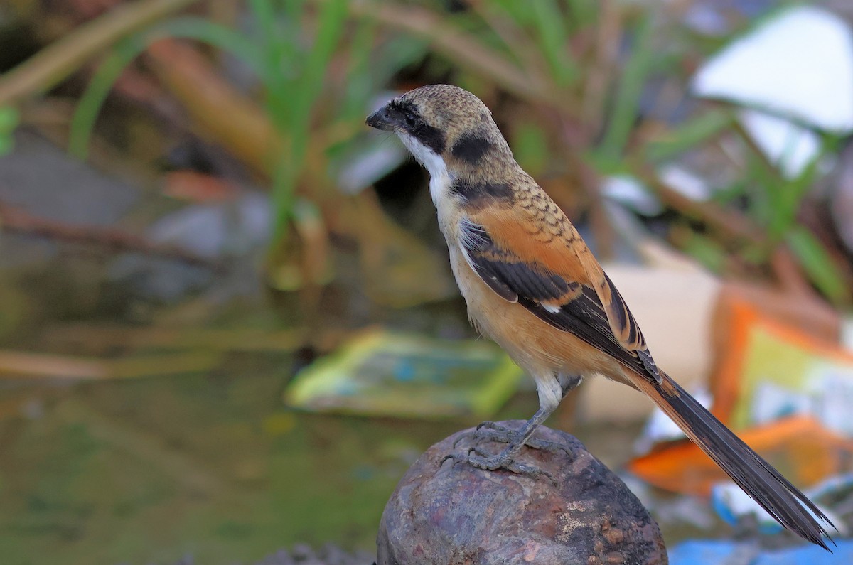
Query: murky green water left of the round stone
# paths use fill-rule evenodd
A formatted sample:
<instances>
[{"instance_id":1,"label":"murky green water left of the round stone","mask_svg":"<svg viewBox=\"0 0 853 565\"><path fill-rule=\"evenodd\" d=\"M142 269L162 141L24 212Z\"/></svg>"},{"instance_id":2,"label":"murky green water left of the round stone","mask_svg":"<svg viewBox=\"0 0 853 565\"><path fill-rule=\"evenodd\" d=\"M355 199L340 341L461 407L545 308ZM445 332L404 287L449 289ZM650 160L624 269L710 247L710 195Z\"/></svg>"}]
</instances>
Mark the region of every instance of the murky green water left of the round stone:
<instances>
[{"instance_id":1,"label":"murky green water left of the round stone","mask_svg":"<svg viewBox=\"0 0 853 565\"><path fill-rule=\"evenodd\" d=\"M242 364L251 370L26 388L49 399L0 423L0 562L252 562L328 541L374 550L405 469L462 425L287 411L278 364Z\"/></svg>"}]
</instances>

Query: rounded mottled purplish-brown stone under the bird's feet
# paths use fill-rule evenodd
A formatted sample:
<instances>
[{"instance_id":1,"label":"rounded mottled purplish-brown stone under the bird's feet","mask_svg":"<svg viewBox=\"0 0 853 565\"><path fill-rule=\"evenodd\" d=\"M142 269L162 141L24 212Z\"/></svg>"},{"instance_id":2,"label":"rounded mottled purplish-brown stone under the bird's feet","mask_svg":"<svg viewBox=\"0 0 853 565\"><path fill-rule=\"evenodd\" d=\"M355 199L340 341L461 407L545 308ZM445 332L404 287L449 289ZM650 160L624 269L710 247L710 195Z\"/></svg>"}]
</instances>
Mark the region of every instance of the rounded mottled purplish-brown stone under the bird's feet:
<instances>
[{"instance_id":1,"label":"rounded mottled purplish-brown stone under the bird's feet","mask_svg":"<svg viewBox=\"0 0 853 565\"><path fill-rule=\"evenodd\" d=\"M519 428L523 422L500 422ZM520 461L554 477L485 471L446 461L453 442L430 447L386 505L377 539L379 565L539 565L666 563L658 525L622 481L572 435L539 428L535 437L564 451L525 448ZM473 439L460 441L464 452ZM495 453L504 445L485 441Z\"/></svg>"}]
</instances>

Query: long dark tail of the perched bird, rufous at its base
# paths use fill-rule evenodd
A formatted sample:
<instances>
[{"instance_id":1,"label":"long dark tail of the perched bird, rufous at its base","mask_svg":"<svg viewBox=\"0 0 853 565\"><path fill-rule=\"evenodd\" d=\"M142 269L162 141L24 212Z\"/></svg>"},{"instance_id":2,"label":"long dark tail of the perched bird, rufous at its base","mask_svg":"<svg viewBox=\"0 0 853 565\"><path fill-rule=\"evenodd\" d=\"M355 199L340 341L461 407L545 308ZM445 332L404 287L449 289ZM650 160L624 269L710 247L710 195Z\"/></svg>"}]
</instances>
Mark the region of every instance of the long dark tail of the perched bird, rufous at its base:
<instances>
[{"instance_id":1,"label":"long dark tail of the perched bird, rufous at its base","mask_svg":"<svg viewBox=\"0 0 853 565\"><path fill-rule=\"evenodd\" d=\"M632 382L776 521L828 551L824 538L833 540L817 518L830 527L835 527L833 522L670 376L663 372L661 376L663 382L659 385L647 379L632 379Z\"/></svg>"}]
</instances>

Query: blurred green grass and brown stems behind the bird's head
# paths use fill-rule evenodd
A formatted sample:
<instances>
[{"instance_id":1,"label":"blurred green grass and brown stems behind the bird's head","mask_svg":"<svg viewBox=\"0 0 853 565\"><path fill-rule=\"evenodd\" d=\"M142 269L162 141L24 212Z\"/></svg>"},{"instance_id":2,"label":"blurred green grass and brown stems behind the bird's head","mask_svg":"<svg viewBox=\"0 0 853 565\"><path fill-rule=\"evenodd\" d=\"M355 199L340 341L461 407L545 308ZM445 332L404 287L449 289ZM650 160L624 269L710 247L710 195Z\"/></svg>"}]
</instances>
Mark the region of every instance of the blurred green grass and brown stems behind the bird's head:
<instances>
[{"instance_id":1,"label":"blurred green grass and brown stems behind the bird's head","mask_svg":"<svg viewBox=\"0 0 853 565\"><path fill-rule=\"evenodd\" d=\"M496 106L519 162L573 217L589 213L604 256L613 236L601 178L630 175L664 202L670 241L705 265L773 278L780 277L773 259L784 256L793 265L787 275L803 277L837 306L849 304L849 265L798 218L818 172L786 178L737 125L732 108L688 96L691 69L729 36L668 26L678 6L667 15L642 4L582 0L161 0L97 15L83 4L79 26L63 22L70 27L54 30L53 44L4 74L6 150L22 106L32 111L44 100L33 96L78 79L78 95L63 92L62 99L77 98L67 147L84 157L104 101L120 96L113 86L122 73L156 81L183 105L180 127L228 150L269 187L265 271L274 288L334 277L329 234L339 226L328 208L347 206L352 195L340 189L340 173L375 145L363 114L388 88L452 81ZM34 5L15 3L21 12ZM745 12L732 32L749 24ZM743 150L715 202L682 202L657 174L659 166L722 143ZM368 171L350 192L382 172Z\"/></svg>"}]
</instances>

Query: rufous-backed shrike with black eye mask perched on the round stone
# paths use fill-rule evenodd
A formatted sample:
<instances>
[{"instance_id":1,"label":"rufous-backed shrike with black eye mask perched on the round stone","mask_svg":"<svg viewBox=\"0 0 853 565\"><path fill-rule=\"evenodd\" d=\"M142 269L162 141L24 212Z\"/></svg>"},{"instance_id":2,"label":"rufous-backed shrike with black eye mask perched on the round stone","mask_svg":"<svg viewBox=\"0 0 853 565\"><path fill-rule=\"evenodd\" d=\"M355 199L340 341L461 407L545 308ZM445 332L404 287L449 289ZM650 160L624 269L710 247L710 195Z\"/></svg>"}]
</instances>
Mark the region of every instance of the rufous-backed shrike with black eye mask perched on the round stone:
<instances>
[{"instance_id":1,"label":"rufous-backed shrike with black eye mask perched on the round stone","mask_svg":"<svg viewBox=\"0 0 853 565\"><path fill-rule=\"evenodd\" d=\"M480 334L536 382L539 409L490 455L451 455L486 470L536 473L516 458L560 400L602 375L645 394L776 521L829 550L817 506L655 364L628 305L572 222L514 159L489 108L450 84L409 90L366 124L396 134L430 175L450 266Z\"/></svg>"}]
</instances>

